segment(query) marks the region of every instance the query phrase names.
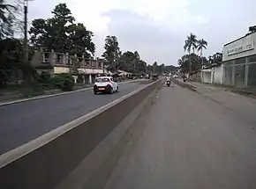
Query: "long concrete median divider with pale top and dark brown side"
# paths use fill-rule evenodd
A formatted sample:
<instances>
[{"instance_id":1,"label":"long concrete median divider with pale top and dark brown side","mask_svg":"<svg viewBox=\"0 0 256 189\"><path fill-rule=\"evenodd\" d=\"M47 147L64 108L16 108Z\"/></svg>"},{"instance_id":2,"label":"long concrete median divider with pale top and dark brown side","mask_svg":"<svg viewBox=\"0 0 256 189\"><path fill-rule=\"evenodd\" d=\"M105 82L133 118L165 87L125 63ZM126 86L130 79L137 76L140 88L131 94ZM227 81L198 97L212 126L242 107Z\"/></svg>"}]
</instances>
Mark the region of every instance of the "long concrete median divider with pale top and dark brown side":
<instances>
[{"instance_id":1,"label":"long concrete median divider with pale top and dark brown side","mask_svg":"<svg viewBox=\"0 0 256 189\"><path fill-rule=\"evenodd\" d=\"M147 84L0 156L0 188L56 188L162 81Z\"/></svg>"}]
</instances>

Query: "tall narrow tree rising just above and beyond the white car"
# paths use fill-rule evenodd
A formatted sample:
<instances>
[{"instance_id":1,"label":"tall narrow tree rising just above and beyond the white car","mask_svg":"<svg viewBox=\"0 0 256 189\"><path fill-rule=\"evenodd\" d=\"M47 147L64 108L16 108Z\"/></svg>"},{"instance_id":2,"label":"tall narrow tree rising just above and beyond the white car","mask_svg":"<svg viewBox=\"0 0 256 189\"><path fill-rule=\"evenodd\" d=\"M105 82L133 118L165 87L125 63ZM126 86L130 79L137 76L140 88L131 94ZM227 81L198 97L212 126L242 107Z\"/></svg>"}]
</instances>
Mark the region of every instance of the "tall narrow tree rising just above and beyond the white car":
<instances>
[{"instance_id":1,"label":"tall narrow tree rising just above and beyond the white car","mask_svg":"<svg viewBox=\"0 0 256 189\"><path fill-rule=\"evenodd\" d=\"M105 60L108 63L109 69L113 70L116 67L116 60L120 58L121 52L118 44L118 40L116 36L107 36L105 39L105 46L104 46L104 53L102 57L105 58Z\"/></svg>"}]
</instances>

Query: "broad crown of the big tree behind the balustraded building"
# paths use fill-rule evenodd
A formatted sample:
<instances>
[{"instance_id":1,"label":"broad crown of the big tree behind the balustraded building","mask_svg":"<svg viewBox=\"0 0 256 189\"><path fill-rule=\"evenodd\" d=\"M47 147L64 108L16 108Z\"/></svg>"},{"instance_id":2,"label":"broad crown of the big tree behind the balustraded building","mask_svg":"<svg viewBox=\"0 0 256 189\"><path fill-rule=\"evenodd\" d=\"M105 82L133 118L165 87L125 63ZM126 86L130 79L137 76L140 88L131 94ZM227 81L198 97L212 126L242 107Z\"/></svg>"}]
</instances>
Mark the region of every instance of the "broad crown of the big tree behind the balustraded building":
<instances>
[{"instance_id":1,"label":"broad crown of the big tree behind the balustraded building","mask_svg":"<svg viewBox=\"0 0 256 189\"><path fill-rule=\"evenodd\" d=\"M94 33L88 31L83 24L74 24L75 18L66 4L56 5L52 14L52 18L33 20L29 33L34 46L71 55L94 55Z\"/></svg>"}]
</instances>

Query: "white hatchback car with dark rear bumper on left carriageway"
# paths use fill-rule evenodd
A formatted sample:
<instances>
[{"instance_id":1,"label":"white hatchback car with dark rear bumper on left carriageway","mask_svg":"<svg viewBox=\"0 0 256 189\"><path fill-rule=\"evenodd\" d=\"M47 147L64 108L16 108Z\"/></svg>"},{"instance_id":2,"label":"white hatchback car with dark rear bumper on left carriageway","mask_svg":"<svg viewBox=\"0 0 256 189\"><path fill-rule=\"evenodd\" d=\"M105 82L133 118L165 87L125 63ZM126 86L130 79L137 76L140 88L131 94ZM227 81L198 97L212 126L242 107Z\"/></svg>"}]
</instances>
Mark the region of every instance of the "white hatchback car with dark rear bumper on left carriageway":
<instances>
[{"instance_id":1,"label":"white hatchback car with dark rear bumper on left carriageway","mask_svg":"<svg viewBox=\"0 0 256 189\"><path fill-rule=\"evenodd\" d=\"M99 76L96 77L94 83L94 94L98 94L98 92L108 92L113 94L114 91L118 91L119 86L117 82L114 82L112 76Z\"/></svg>"}]
</instances>

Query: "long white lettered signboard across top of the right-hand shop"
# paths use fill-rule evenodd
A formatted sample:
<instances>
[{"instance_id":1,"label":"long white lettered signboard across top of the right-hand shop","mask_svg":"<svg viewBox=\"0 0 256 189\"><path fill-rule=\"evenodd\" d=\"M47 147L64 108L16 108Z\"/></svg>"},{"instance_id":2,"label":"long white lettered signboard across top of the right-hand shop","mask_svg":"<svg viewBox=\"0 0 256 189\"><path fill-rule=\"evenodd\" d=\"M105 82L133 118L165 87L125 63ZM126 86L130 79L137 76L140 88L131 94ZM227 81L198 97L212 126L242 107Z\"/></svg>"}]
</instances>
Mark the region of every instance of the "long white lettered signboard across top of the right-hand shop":
<instances>
[{"instance_id":1,"label":"long white lettered signboard across top of the right-hand shop","mask_svg":"<svg viewBox=\"0 0 256 189\"><path fill-rule=\"evenodd\" d=\"M256 55L256 33L245 36L240 40L231 42L223 47L222 62L233 59Z\"/></svg>"}]
</instances>

